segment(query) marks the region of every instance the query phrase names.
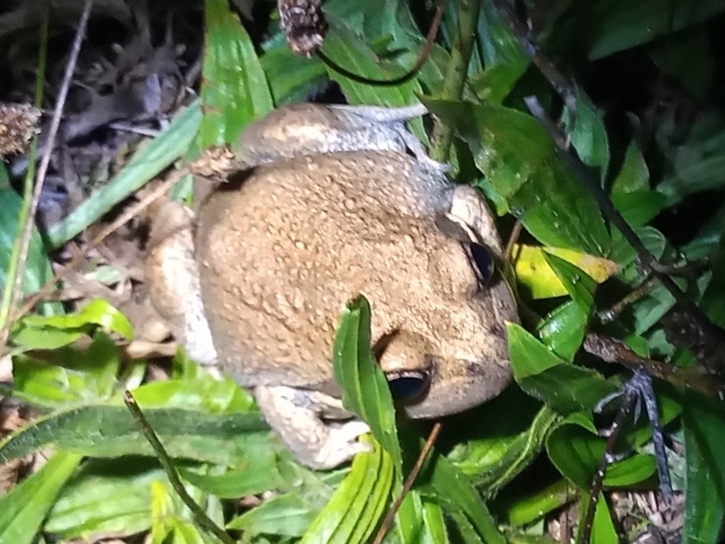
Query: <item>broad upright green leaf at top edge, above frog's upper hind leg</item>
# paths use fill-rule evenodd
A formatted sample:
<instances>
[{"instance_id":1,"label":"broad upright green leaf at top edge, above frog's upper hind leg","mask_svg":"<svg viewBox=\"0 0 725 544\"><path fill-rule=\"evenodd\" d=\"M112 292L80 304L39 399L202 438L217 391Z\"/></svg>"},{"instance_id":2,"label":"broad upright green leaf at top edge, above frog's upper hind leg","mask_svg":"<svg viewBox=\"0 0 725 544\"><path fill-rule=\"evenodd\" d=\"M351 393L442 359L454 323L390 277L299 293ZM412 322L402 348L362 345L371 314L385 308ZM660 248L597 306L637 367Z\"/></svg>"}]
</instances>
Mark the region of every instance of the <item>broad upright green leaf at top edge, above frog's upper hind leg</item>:
<instances>
[{"instance_id":1,"label":"broad upright green leaf at top edge, above frog's upper hind leg","mask_svg":"<svg viewBox=\"0 0 725 544\"><path fill-rule=\"evenodd\" d=\"M236 143L242 129L271 112L267 86L255 46L225 0L206 0L201 102L204 118L199 146Z\"/></svg>"}]
</instances>

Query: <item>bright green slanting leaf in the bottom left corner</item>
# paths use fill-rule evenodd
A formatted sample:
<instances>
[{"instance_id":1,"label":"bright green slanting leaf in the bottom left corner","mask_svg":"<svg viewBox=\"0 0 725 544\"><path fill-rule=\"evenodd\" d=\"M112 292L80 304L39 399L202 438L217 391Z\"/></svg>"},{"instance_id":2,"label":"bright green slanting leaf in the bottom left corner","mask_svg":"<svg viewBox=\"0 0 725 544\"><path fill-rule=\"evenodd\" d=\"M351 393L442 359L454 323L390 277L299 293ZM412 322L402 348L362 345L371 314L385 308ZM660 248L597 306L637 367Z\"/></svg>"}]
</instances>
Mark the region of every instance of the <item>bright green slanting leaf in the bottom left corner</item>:
<instances>
[{"instance_id":1,"label":"bright green slanting leaf in the bottom left corner","mask_svg":"<svg viewBox=\"0 0 725 544\"><path fill-rule=\"evenodd\" d=\"M32 544L81 455L57 452L40 471L0 497L0 544Z\"/></svg>"}]
</instances>

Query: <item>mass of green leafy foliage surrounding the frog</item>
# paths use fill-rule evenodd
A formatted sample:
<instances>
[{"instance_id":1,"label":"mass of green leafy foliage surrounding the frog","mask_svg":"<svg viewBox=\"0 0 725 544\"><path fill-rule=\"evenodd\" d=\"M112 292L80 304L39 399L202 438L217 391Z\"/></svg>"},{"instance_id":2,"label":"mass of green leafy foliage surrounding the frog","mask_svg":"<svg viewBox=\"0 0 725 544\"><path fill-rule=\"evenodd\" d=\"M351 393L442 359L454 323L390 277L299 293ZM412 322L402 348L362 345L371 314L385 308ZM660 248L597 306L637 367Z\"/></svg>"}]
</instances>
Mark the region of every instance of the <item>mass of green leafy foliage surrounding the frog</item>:
<instances>
[{"instance_id":1,"label":"mass of green leafy foliage surrounding the frog","mask_svg":"<svg viewBox=\"0 0 725 544\"><path fill-rule=\"evenodd\" d=\"M424 42L419 22L430 14L423 13L423 4L329 0L324 53L370 78L404 73ZM458 2L449 3L418 76L401 86L377 87L355 83L316 57L296 57L274 18L243 25L227 2L207 0L200 99L45 239L49 251L62 245L174 160L236 141L249 121L273 105L314 96L326 78L339 83L351 103L400 105L420 98L456 133L458 180L482 189L499 216L516 218L525 228L526 238L515 251L518 291L522 303L543 317L507 325L516 384L445 423L386 542L540 541L543 515L572 495L586 503L604 454L594 407L626 374L583 355L581 345L597 325L596 310L611 306L644 278L633 249L527 112L524 97L536 94L565 127L575 151L596 169L616 208L656 257L710 259L712 269L697 268L688 292L725 325L720 280L725 277L725 124L714 113L721 103L714 98L712 73L720 60L710 49L722 29L725 3L546 4L546 12L535 8L532 17L546 54L582 83L575 88L575 111L561 105L488 0L481 7L468 81L462 97L452 100L440 98L440 92L456 38ZM268 33L253 40L246 27L260 24L268 24ZM617 55L656 67L713 114L695 117L676 140L674 109L658 124L643 108L610 104L607 111L594 83L620 75L611 71ZM652 110L656 99L651 97ZM427 141L423 121L411 128ZM0 192L2 208L11 212L0 219L0 256L15 230L13 195L5 187ZM682 215L691 209L694 213ZM687 234L672 220L686 221ZM501 225L505 228L506 219ZM6 266L0 258L0 280ZM48 257L40 238L34 238L25 290L33 292L48 274ZM691 353L676 350L664 335L661 318L672 306L672 296L654 287L606 332L642 355L691 365ZM345 405L371 426L366 440L372 451L358 455L351 467L330 472L310 471L290 459L247 393L228 380L212 379L183 355L171 380L142 384L146 362L121 362L113 341L131 338L131 325L103 301L72 316L31 316L15 324L13 394L45 413L0 443L0 461L49 447L54 454L41 471L0 498L0 543L32 542L43 532L91 539L149 529L153 542L211 541L136 431L121 403L124 389L133 389L193 497L234 534L252 542L368 541L421 448L420 429L401 425L396 432L390 394L370 351L370 319L364 299L348 306L335 365ZM90 338L88 345L76 344L81 338ZM37 350L53 350L53 364ZM683 469L677 468L674 452L671 458L676 481L684 482L682 541L714 542L725 512L725 461L718 455L725 429L722 404L670 384L658 383L656 392L662 421L685 445ZM630 455L609 467L605 489L656 486L652 454L645 447L650 438L645 422L625 425L622 442ZM254 508L228 508L227 499L266 491L274 494ZM601 496L596 504L593 541L612 542L609 506Z\"/></svg>"}]
</instances>

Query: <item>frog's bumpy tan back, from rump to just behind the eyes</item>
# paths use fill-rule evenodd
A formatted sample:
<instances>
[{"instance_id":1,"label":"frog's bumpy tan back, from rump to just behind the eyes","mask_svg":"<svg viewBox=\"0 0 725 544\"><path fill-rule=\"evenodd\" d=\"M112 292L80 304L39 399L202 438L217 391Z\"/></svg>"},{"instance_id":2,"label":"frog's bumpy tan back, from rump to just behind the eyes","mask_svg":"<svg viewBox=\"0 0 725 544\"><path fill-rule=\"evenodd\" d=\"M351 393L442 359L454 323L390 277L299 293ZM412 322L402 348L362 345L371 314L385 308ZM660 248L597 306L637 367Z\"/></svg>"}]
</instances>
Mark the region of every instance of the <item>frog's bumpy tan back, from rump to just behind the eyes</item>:
<instances>
[{"instance_id":1,"label":"frog's bumpy tan back, from rump to just behind the eyes","mask_svg":"<svg viewBox=\"0 0 725 544\"><path fill-rule=\"evenodd\" d=\"M433 266L430 248L448 250L433 223L451 191L440 171L380 151L300 157L230 181L199 211L197 233L220 364L245 385L330 382L344 303L363 292L378 329L399 325L404 308L387 308L418 296L409 278Z\"/></svg>"}]
</instances>

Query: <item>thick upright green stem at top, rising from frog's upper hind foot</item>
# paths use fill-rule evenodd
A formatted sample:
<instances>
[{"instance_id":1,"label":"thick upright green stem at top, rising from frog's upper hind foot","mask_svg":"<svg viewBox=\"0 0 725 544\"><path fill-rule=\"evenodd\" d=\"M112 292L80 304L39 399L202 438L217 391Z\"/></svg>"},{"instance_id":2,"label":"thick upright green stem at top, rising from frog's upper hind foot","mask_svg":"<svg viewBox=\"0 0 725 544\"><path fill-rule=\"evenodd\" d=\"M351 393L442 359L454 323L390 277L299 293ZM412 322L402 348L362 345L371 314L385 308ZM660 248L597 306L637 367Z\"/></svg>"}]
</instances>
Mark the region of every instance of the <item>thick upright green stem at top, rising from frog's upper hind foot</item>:
<instances>
[{"instance_id":1,"label":"thick upright green stem at top, rising from frog's upper hind foot","mask_svg":"<svg viewBox=\"0 0 725 544\"><path fill-rule=\"evenodd\" d=\"M480 12L480 0L461 0L459 2L458 33L450 50L448 71L443 81L440 98L459 100L463 85L469 73L470 54L476 36L476 24ZM437 121L433 127L433 146L430 158L439 162L448 162L450 142L453 140L453 127L449 123Z\"/></svg>"}]
</instances>

